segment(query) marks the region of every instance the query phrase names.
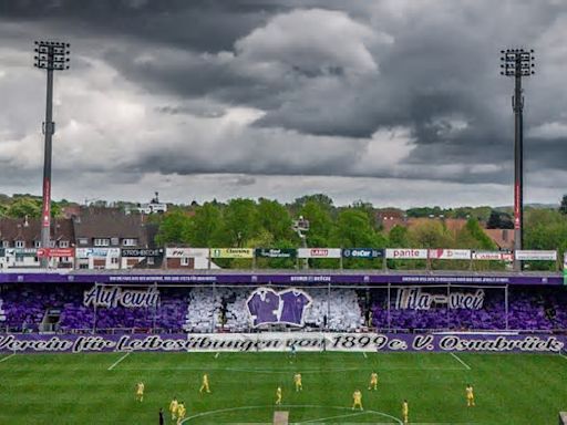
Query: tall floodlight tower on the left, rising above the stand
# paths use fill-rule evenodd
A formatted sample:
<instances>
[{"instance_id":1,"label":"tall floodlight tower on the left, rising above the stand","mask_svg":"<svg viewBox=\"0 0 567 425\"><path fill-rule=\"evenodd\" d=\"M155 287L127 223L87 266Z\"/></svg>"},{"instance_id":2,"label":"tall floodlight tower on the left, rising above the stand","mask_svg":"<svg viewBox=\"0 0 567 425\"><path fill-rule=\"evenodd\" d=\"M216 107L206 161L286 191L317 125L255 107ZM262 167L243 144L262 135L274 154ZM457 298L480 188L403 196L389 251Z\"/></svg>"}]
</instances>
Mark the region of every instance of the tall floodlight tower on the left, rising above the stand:
<instances>
[{"instance_id":1,"label":"tall floodlight tower on the left, rising above the stand","mask_svg":"<svg viewBox=\"0 0 567 425\"><path fill-rule=\"evenodd\" d=\"M43 134L45 135L45 151L43 157L43 206L41 209L41 247L50 247L51 230L51 139L55 133L53 118L53 71L69 70L69 43L58 41L35 41L35 56L33 65L48 71L48 93L45 102L45 121ZM41 267L49 266L49 257L41 258Z\"/></svg>"}]
</instances>

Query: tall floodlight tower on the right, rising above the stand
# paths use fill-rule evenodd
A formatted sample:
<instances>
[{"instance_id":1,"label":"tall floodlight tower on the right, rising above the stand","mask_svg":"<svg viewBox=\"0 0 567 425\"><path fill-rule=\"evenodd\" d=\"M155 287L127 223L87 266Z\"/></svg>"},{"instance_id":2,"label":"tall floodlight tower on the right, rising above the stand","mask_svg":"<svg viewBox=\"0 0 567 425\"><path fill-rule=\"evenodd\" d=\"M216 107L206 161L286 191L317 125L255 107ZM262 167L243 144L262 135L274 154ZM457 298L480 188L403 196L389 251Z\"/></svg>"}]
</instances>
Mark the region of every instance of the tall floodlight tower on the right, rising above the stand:
<instances>
[{"instance_id":1,"label":"tall floodlight tower on the right, rising above the stand","mask_svg":"<svg viewBox=\"0 0 567 425\"><path fill-rule=\"evenodd\" d=\"M522 77L534 75L534 50L501 50L501 74L515 80L512 110L514 111L514 250L524 246L524 95ZM514 270L522 270L522 261L514 260Z\"/></svg>"}]
</instances>

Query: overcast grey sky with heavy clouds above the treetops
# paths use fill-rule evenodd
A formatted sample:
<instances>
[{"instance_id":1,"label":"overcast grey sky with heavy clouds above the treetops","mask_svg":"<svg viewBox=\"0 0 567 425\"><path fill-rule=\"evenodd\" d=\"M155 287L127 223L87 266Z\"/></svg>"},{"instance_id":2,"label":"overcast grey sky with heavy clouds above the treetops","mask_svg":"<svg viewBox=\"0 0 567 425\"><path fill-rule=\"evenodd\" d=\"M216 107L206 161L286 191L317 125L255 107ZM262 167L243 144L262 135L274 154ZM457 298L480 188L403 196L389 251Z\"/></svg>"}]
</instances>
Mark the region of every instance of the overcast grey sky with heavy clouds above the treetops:
<instances>
[{"instance_id":1,"label":"overcast grey sky with heavy clouds above the treetops","mask_svg":"<svg viewBox=\"0 0 567 425\"><path fill-rule=\"evenodd\" d=\"M42 39L54 198L512 205L516 46L526 201L567 193L564 0L0 0L0 193L41 193Z\"/></svg>"}]
</instances>

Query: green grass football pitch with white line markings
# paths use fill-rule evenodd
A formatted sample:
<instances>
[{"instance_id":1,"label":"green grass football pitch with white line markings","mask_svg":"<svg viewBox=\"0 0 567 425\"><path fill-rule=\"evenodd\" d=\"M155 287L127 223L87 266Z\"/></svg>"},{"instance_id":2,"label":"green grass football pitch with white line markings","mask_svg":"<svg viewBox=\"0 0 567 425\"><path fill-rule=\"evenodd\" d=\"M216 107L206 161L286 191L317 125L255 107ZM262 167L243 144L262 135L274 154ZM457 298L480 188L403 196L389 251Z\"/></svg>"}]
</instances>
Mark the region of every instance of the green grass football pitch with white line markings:
<instances>
[{"instance_id":1,"label":"green grass football pitch with white line markings","mask_svg":"<svg viewBox=\"0 0 567 425\"><path fill-rule=\"evenodd\" d=\"M118 362L120 361L120 362ZM112 367L111 367L112 366ZM111 370L109 370L111 369ZM370 373L379 387L368 391ZM567 359L560 355L447 353L123 353L16 354L0 359L0 424L157 424L174 395L184 424L271 424L275 393L290 423L556 424L567 410ZM293 390L293 373L303 392ZM199 394L209 374L212 393ZM145 400L135 401L135 384ZM475 387L476 407L464 390ZM364 412L352 412L352 392ZM166 423L172 423L168 415Z\"/></svg>"}]
</instances>

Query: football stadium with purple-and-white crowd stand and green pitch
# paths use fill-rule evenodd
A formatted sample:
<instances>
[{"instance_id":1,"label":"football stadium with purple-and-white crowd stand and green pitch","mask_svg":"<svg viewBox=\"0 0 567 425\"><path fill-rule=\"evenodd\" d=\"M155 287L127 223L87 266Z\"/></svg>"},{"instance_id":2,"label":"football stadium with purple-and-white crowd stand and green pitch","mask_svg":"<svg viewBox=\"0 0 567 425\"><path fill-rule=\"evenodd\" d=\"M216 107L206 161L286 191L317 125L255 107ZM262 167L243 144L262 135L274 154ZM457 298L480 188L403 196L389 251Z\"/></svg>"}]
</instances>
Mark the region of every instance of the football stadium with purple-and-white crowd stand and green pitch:
<instances>
[{"instance_id":1,"label":"football stadium with purple-and-white crowd stand and green pitch","mask_svg":"<svg viewBox=\"0 0 567 425\"><path fill-rule=\"evenodd\" d=\"M401 424L400 400L411 423L492 424L509 403L529 412L498 423L523 424L553 422L561 405L559 273L20 269L0 279L4 400L43 405L10 416L22 423L148 423L174 396L188 424ZM199 392L204 373L210 393ZM463 408L470 383L478 408ZM351 410L355 390L364 411Z\"/></svg>"}]
</instances>

